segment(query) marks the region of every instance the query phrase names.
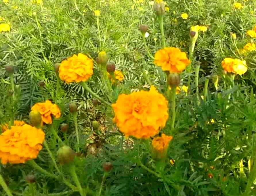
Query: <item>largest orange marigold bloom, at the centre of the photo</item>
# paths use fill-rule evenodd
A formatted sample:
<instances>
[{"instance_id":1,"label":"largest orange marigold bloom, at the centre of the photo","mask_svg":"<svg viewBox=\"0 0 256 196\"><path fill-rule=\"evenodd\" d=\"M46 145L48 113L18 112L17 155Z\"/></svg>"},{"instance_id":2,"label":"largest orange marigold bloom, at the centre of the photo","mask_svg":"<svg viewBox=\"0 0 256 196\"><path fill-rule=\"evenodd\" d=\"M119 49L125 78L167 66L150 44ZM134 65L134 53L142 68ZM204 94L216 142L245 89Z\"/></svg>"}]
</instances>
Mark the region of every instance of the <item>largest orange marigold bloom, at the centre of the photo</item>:
<instances>
[{"instance_id":1,"label":"largest orange marigold bloom, at the centre of the photo","mask_svg":"<svg viewBox=\"0 0 256 196\"><path fill-rule=\"evenodd\" d=\"M168 118L168 101L154 86L150 91L119 95L112 108L113 121L126 137L148 139L158 134Z\"/></svg>"}]
</instances>

